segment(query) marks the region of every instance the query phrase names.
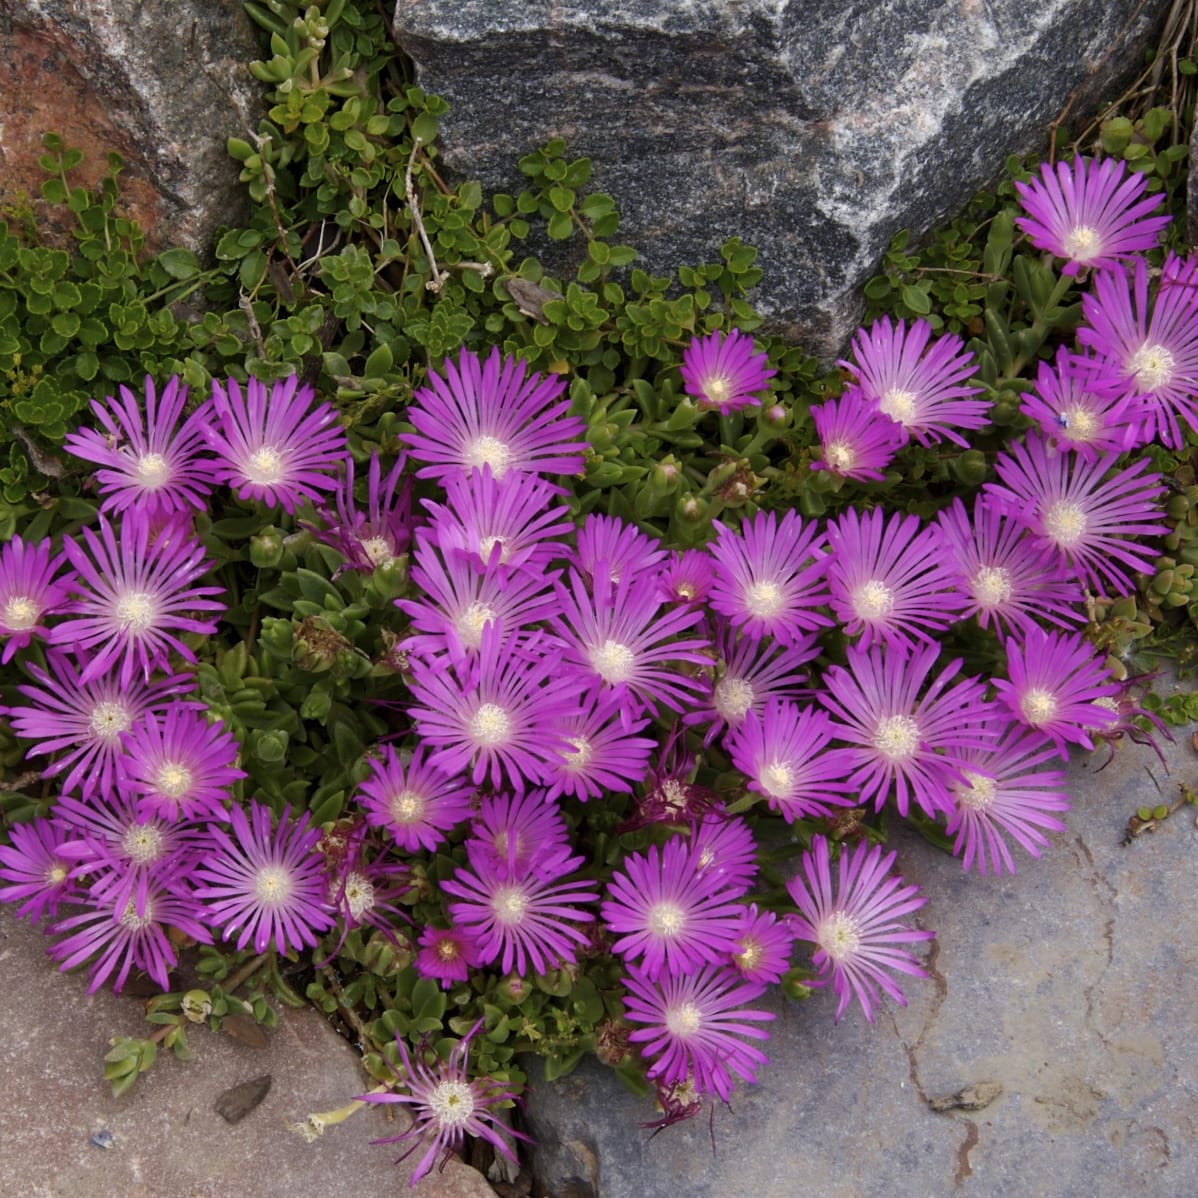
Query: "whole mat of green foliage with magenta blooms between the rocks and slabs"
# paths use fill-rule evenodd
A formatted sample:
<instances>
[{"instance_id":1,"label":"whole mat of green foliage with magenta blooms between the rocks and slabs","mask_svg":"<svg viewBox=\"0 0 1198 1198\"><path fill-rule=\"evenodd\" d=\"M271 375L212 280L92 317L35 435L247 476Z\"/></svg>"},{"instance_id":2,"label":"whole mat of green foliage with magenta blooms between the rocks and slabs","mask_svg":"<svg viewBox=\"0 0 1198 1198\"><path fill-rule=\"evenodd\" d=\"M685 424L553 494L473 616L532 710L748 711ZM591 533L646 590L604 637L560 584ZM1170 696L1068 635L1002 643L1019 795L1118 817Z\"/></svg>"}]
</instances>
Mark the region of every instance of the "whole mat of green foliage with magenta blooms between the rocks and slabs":
<instances>
[{"instance_id":1,"label":"whole mat of green foliage with magenta blooms between the rocks and slabs","mask_svg":"<svg viewBox=\"0 0 1198 1198\"><path fill-rule=\"evenodd\" d=\"M1014 871L1071 745L1194 714L1144 690L1198 628L1191 102L1149 74L897 238L823 368L750 247L646 272L562 144L444 180L373 5L247 8L214 266L53 137L75 246L0 238L0 897L161 991L119 1091L273 998L341 1021L417 1176L514 1155L534 1057L695 1114L769 987L872 1018L922 973L895 819Z\"/></svg>"}]
</instances>

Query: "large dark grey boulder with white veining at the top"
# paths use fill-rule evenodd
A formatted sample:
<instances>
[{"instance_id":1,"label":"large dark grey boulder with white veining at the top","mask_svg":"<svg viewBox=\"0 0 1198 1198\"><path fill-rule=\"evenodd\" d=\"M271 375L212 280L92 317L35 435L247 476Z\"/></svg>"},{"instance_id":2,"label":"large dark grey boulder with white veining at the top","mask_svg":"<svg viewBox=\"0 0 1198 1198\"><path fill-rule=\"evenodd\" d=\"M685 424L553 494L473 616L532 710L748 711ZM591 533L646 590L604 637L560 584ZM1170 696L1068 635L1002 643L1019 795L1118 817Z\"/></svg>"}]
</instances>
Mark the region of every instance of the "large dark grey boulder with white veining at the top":
<instances>
[{"instance_id":1,"label":"large dark grey boulder with white veining at the top","mask_svg":"<svg viewBox=\"0 0 1198 1198\"><path fill-rule=\"evenodd\" d=\"M761 249L754 301L834 356L901 228L960 211L1071 93L1139 60L1167 0L398 0L446 162L519 189L552 137L594 161L642 265ZM1078 107L1084 110L1085 101Z\"/></svg>"}]
</instances>

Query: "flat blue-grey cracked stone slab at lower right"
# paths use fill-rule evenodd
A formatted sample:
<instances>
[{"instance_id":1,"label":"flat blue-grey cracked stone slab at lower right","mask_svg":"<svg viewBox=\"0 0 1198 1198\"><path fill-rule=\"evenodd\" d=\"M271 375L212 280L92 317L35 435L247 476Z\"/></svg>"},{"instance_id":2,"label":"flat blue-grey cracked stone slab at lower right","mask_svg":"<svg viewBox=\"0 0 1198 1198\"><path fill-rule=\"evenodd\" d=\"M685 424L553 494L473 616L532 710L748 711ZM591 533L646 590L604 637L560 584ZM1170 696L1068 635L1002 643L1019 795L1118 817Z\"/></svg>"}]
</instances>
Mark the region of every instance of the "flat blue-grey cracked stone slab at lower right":
<instances>
[{"instance_id":1,"label":"flat blue-grey cracked stone slab at lower right","mask_svg":"<svg viewBox=\"0 0 1198 1198\"><path fill-rule=\"evenodd\" d=\"M928 898L920 922L937 931L930 979L903 979L909 1006L888 1004L873 1027L855 1006L835 1025L829 992L776 1000L772 1061L716 1111L714 1154L706 1114L651 1139L637 1125L652 1102L599 1065L534 1085L544 1192L1198 1193L1194 809L1120 845L1138 806L1194 783L1191 732L1167 750L1169 774L1133 745L1103 772L1105 755L1076 762L1067 831L1014 878L966 875L900 835L902 872Z\"/></svg>"}]
</instances>

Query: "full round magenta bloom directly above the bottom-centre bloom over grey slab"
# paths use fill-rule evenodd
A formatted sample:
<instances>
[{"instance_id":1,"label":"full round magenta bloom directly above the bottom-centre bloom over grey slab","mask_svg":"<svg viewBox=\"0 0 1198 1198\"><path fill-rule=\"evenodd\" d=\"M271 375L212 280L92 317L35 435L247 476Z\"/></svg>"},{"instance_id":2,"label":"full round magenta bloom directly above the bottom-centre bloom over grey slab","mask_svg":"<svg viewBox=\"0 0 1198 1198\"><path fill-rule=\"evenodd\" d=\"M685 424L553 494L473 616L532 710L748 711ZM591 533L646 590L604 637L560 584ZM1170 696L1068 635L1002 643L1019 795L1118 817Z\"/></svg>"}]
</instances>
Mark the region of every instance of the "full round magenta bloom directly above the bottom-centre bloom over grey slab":
<instances>
[{"instance_id":1,"label":"full round magenta bloom directly above the bottom-centre bloom over grey slab","mask_svg":"<svg viewBox=\"0 0 1198 1198\"><path fill-rule=\"evenodd\" d=\"M727 962L734 951L742 904L703 876L698 852L680 836L629 853L607 894L599 914L617 937L612 951L640 961L651 981Z\"/></svg>"}]
</instances>

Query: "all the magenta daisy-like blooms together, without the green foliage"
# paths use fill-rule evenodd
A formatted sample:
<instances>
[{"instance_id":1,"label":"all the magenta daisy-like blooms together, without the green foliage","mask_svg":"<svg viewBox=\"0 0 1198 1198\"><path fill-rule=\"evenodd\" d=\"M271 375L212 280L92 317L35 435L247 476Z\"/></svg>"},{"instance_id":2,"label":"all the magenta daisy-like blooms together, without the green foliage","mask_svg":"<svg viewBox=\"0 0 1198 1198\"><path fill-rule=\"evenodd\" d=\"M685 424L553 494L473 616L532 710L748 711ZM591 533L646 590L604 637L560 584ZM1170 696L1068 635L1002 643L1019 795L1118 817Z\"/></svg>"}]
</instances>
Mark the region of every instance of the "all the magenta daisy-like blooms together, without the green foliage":
<instances>
[{"instance_id":1,"label":"all the magenta daisy-like blooms together, without the green foliage","mask_svg":"<svg viewBox=\"0 0 1198 1198\"><path fill-rule=\"evenodd\" d=\"M563 476L585 468L585 422L562 379L498 350L461 351L416 392L398 461L370 460L364 512L344 430L295 379L230 380L190 415L177 380L161 397L147 381L144 406L123 388L95 404L101 429L68 448L99 467L97 528L56 555L0 550L4 660L46 646L4 714L62 792L0 848L0 897L48 915L52 954L91 961L93 988L134 967L165 987L168 927L256 952L363 922L399 934L407 861L452 839L443 918L410 938L420 975L449 988L472 969L525 978L613 954L649 1077L721 1100L767 1059L773 1015L754 1003L795 942L837 1018L854 997L869 1018L879 991L902 1002L893 973L921 973L903 945L931 936L903 921L922 898L893 853L809 821L914 807L984 873L1014 871L1009 841L1037 855L1063 827L1058 762L1113 728L1123 697L1078 630L1084 600L1130 592L1154 557L1139 538L1166 531L1160 477L1120 455L1180 444L1179 417L1198 430L1196 266L1169 259L1155 290L1142 261L1129 273L1162 219L1140 192L1084 161L1023 188L1033 241L1093 272L1085 326L1077 351L1041 363L1024 401L1036 428L998 454L998 480L930 520L758 512L679 553L618 518L579 519ZM682 377L700 411L726 415L761 403L766 361L713 333ZM972 355L926 321L861 329L843 365L843 394L812 410L813 470L877 482L910 441L967 447L987 423ZM355 831L234 798L237 745L187 672L222 610L192 525L220 484L290 515L315 506L343 569L407 563L395 660L411 734L370 752ZM1005 677L945 660L960 622L997 635ZM819 671L829 633L845 649ZM696 785L691 733L810 846L792 909L750 900L752 825ZM607 872L570 821L612 798L631 812L621 830L648 842ZM60 918L65 903L84 910ZM508 1091L472 1088L465 1051L434 1076L403 1049L434 1136L417 1175L462 1129L506 1151L489 1108Z\"/></svg>"}]
</instances>

